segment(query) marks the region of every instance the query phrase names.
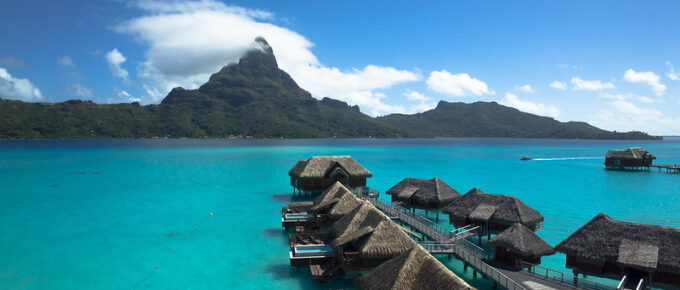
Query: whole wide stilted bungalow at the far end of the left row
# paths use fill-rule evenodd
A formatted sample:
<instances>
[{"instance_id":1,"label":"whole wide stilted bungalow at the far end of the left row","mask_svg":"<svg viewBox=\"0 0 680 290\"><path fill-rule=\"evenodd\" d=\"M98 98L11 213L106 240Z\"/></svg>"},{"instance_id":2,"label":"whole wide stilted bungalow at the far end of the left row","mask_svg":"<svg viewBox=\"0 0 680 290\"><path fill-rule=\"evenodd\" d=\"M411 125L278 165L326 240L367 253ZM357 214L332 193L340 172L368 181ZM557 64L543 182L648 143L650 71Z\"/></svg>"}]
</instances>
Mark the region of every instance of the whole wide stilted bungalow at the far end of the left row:
<instances>
[{"instance_id":1,"label":"whole wide stilted bungalow at the far end of the left row","mask_svg":"<svg viewBox=\"0 0 680 290\"><path fill-rule=\"evenodd\" d=\"M293 190L318 193L340 182L348 188L366 186L366 178L373 176L350 156L313 156L298 161L288 171Z\"/></svg>"}]
</instances>

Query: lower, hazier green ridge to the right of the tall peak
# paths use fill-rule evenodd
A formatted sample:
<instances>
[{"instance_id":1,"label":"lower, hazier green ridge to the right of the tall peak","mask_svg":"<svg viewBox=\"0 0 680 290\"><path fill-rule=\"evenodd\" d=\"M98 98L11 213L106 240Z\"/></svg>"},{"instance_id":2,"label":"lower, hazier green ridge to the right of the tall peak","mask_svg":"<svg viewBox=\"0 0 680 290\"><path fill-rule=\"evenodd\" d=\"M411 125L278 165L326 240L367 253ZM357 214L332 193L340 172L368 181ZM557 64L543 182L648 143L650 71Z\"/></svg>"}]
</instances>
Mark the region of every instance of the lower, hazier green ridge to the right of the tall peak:
<instances>
[{"instance_id":1,"label":"lower, hazier green ridge to the right of the tall peak","mask_svg":"<svg viewBox=\"0 0 680 290\"><path fill-rule=\"evenodd\" d=\"M379 121L418 131L427 137L497 137L564 139L652 139L641 132L615 133L584 122L562 123L496 102L439 102L435 109L414 115L391 114Z\"/></svg>"}]
</instances>

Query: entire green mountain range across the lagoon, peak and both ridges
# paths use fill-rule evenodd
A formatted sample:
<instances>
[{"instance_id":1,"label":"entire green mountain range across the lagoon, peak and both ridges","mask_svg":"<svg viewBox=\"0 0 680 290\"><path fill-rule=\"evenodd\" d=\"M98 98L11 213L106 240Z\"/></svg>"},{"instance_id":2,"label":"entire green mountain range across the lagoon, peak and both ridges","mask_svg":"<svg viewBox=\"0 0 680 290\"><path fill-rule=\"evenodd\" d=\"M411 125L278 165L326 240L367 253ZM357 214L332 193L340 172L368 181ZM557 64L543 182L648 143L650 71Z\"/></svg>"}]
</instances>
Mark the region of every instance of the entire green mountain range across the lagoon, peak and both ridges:
<instances>
[{"instance_id":1,"label":"entire green mountain range across the lagoon, peak and both ridges","mask_svg":"<svg viewBox=\"0 0 680 290\"><path fill-rule=\"evenodd\" d=\"M158 105L0 99L0 139L509 137L652 139L586 123L561 123L496 103L440 102L414 115L371 118L357 106L317 100L278 68L272 48L248 51L197 90L173 89Z\"/></svg>"}]
</instances>

